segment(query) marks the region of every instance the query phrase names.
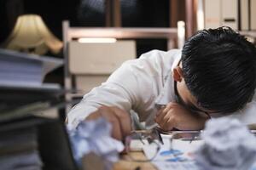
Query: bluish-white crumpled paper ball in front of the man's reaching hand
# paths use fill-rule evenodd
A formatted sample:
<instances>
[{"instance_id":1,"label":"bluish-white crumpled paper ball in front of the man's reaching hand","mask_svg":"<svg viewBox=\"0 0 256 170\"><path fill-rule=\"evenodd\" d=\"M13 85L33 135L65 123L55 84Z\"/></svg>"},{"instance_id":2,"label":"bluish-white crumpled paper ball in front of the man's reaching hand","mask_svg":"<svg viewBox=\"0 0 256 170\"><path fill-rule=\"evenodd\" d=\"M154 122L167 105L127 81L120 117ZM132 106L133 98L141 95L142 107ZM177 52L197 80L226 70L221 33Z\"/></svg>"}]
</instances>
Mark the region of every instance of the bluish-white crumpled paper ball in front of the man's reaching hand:
<instances>
[{"instance_id":1,"label":"bluish-white crumpled paper ball in front of the man's reaching hand","mask_svg":"<svg viewBox=\"0 0 256 170\"><path fill-rule=\"evenodd\" d=\"M111 169L113 162L119 160L124 144L111 137L111 130L111 124L102 117L82 121L75 129L67 126L73 156L80 166L82 158L91 152L102 158L105 169Z\"/></svg>"}]
</instances>

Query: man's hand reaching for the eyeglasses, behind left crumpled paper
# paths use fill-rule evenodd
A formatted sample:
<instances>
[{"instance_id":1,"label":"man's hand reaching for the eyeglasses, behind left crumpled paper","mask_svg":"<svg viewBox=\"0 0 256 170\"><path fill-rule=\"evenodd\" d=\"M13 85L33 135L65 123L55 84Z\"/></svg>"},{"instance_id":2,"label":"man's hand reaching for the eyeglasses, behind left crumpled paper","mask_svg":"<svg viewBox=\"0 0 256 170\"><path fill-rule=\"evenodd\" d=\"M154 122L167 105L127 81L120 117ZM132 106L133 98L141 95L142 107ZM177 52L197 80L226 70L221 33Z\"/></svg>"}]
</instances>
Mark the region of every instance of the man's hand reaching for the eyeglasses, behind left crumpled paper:
<instances>
[{"instance_id":1,"label":"man's hand reaching for the eyeglasses, behind left crumpled paper","mask_svg":"<svg viewBox=\"0 0 256 170\"><path fill-rule=\"evenodd\" d=\"M125 139L125 136L131 133L131 117L126 111L118 107L102 106L87 116L85 120L94 120L101 116L112 124L112 137L114 139Z\"/></svg>"}]
</instances>

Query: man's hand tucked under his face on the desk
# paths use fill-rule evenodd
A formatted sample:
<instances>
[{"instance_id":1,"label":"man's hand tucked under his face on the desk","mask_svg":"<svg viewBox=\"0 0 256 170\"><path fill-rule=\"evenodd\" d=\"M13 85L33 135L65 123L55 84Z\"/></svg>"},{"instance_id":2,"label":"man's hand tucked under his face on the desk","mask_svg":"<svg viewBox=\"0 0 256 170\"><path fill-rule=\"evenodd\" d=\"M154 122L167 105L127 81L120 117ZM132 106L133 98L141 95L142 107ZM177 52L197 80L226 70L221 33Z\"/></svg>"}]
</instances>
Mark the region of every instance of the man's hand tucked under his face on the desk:
<instances>
[{"instance_id":1,"label":"man's hand tucked under his face on the desk","mask_svg":"<svg viewBox=\"0 0 256 170\"><path fill-rule=\"evenodd\" d=\"M169 103L164 109L161 109L154 119L163 130L200 130L207 121L207 116L201 116L198 113L191 113L182 105Z\"/></svg>"}]
</instances>

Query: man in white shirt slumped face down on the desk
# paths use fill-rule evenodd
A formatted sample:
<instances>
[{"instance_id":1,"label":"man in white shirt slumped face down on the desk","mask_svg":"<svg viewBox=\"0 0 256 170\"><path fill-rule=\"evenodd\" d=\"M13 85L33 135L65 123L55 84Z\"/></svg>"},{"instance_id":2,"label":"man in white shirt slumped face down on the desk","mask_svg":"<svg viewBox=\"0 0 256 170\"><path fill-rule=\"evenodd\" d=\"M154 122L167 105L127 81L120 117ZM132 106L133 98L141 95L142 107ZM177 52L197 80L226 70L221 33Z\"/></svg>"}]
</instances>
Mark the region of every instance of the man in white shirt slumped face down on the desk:
<instances>
[{"instance_id":1,"label":"man in white shirt slumped face down on the desk","mask_svg":"<svg viewBox=\"0 0 256 170\"><path fill-rule=\"evenodd\" d=\"M198 31L183 49L153 50L126 61L68 113L68 124L100 116L113 138L131 133L130 111L146 127L198 130L207 119L256 123L256 49L229 27ZM255 112L255 113L254 113Z\"/></svg>"}]
</instances>

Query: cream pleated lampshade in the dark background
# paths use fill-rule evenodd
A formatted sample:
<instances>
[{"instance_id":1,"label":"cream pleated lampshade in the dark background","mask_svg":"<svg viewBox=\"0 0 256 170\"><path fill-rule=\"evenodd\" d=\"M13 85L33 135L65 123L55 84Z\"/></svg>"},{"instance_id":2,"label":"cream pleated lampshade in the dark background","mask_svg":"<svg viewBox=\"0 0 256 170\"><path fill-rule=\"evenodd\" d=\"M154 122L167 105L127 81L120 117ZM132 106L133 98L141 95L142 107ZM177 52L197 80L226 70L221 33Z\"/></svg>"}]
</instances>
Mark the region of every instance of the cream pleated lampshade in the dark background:
<instances>
[{"instance_id":1,"label":"cream pleated lampshade in the dark background","mask_svg":"<svg viewBox=\"0 0 256 170\"><path fill-rule=\"evenodd\" d=\"M60 52L62 42L55 37L42 18L37 14L20 15L15 28L8 39L3 42L3 47L34 54L53 54Z\"/></svg>"}]
</instances>

